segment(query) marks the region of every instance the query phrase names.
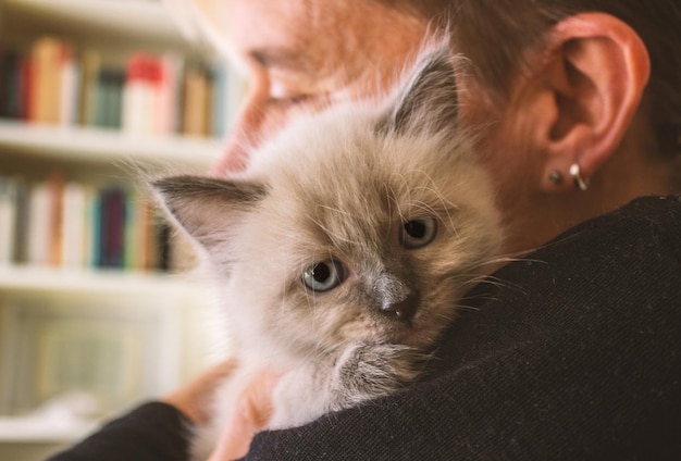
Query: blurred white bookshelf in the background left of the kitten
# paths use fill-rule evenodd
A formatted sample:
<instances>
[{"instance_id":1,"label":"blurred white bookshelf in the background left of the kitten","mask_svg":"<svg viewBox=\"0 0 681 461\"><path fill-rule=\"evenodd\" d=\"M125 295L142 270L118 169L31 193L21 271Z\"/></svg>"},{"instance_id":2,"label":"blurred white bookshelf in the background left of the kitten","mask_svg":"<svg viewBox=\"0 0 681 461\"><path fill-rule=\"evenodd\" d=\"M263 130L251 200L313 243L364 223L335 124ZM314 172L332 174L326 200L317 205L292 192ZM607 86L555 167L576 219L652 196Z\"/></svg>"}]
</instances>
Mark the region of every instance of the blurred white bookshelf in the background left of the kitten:
<instances>
[{"instance_id":1,"label":"blurred white bookshelf in the background left of the kitten","mask_svg":"<svg viewBox=\"0 0 681 461\"><path fill-rule=\"evenodd\" d=\"M0 59L10 47L22 57L32 55L44 37L64 40L69 55L78 58L74 61L79 66L78 86L85 79L85 61L79 59L92 50L102 64L98 68L119 70L124 82L120 91L126 91L134 65L149 68L149 57L162 57L163 65L178 64L172 67L177 72L172 90L166 87L163 94L175 98L171 105L176 113L163 119L159 129L157 122L145 125L154 126L151 129L131 129L122 108L115 126L86 121L83 99L77 108L72 104L73 113L64 120L40 120L28 105L21 116L3 113L0 186L8 178L20 178L33 187L57 171L62 186L77 183L99 194L115 185L126 195L140 194L140 177L147 174L206 172L220 155L242 82L205 42L183 35L164 2L0 0ZM137 64L131 64L132 57ZM200 98L227 104L216 108L211 102L210 109L195 104L186 119L181 111L199 98L189 96L182 79L188 68L209 75L212 86L199 85ZM193 85L196 89L198 84ZM62 96L61 104L64 100ZM144 103L136 108L144 109ZM191 122L197 114L209 122L190 130L186 120ZM0 216L1 199L2 187ZM62 220L65 215L60 214ZM208 362L206 351L212 345L207 344L202 321L214 294L190 273L175 269L174 260L184 250L171 246L175 256L170 270L165 260L162 267L127 262L67 265L65 251L58 262L2 260L0 241L0 459L41 460L91 431L101 418L176 387ZM53 419L64 408L69 416Z\"/></svg>"}]
</instances>

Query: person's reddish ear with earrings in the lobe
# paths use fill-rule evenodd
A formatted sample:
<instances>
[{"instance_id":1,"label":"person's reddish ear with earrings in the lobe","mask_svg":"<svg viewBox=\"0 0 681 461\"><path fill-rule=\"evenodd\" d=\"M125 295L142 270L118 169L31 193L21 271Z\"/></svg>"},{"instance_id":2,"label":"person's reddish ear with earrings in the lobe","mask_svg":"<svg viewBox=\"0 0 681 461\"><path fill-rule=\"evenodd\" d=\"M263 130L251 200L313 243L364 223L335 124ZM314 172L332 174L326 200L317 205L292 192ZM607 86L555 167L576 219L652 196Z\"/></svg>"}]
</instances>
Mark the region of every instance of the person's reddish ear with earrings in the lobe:
<instances>
[{"instance_id":1,"label":"person's reddish ear with earrings in the lobe","mask_svg":"<svg viewBox=\"0 0 681 461\"><path fill-rule=\"evenodd\" d=\"M546 152L541 187L555 191L573 187L573 164L587 182L615 152L639 109L651 64L639 35L609 14L570 16L552 34L552 59L537 74L543 97L535 99L531 122Z\"/></svg>"}]
</instances>

